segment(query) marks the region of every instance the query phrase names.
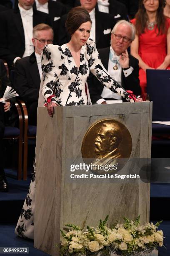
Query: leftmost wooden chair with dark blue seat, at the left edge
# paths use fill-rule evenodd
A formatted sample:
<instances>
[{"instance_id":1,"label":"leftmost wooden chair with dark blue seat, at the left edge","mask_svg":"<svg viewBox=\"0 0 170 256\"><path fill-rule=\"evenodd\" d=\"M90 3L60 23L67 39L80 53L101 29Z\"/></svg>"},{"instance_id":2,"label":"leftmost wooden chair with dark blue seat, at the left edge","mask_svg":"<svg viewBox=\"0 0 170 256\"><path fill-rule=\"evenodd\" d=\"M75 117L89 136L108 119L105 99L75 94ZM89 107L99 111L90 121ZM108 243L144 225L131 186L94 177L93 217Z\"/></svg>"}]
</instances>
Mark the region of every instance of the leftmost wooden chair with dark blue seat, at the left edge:
<instances>
[{"instance_id":1,"label":"leftmost wooden chair with dark blue seat, at the left edge","mask_svg":"<svg viewBox=\"0 0 170 256\"><path fill-rule=\"evenodd\" d=\"M20 105L16 102L15 106L18 111L19 128L17 127L5 127L4 140L18 139L18 173L17 178L22 179L22 159L23 159L23 115Z\"/></svg>"}]
</instances>

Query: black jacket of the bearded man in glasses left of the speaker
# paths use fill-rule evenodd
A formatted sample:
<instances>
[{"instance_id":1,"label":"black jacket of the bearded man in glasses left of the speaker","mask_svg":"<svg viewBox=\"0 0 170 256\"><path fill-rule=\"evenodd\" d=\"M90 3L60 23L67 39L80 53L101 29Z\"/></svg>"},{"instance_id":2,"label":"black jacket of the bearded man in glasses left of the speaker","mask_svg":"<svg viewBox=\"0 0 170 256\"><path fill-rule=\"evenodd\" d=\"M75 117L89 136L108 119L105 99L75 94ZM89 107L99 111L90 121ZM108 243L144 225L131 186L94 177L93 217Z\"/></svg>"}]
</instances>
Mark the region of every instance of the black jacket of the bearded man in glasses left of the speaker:
<instances>
[{"instance_id":1,"label":"black jacket of the bearded man in glasses left of the speaker","mask_svg":"<svg viewBox=\"0 0 170 256\"><path fill-rule=\"evenodd\" d=\"M38 101L40 74L34 52L16 61L14 88L26 105Z\"/></svg>"}]
</instances>

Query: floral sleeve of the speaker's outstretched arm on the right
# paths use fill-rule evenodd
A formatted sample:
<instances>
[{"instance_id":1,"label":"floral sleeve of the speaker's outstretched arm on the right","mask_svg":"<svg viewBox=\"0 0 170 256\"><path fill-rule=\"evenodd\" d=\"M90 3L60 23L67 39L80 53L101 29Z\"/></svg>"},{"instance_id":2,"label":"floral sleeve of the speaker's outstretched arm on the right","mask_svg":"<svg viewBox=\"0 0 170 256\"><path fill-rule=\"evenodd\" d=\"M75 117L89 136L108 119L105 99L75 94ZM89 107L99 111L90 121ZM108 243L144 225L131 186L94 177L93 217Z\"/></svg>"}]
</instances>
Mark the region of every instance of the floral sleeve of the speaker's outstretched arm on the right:
<instances>
[{"instance_id":1,"label":"floral sleeve of the speaker's outstretched arm on the right","mask_svg":"<svg viewBox=\"0 0 170 256\"><path fill-rule=\"evenodd\" d=\"M92 74L97 77L97 79L112 92L118 93L120 96L124 97L126 100L133 102L128 96L128 93L117 83L117 81L110 77L107 70L103 67L100 61L99 53L96 49L94 41L90 39L87 44L86 58L88 60L89 68Z\"/></svg>"}]
</instances>

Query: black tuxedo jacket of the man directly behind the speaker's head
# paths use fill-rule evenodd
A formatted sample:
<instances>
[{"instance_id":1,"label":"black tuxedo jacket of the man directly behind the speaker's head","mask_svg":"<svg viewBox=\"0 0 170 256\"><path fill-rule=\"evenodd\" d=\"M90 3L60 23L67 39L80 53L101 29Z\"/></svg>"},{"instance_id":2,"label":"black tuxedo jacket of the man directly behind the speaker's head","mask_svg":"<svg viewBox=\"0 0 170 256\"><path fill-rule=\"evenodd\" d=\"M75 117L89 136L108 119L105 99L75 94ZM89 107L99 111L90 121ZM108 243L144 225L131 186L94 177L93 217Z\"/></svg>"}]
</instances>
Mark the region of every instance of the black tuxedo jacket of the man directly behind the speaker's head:
<instances>
[{"instance_id":1,"label":"black tuxedo jacket of the man directly behind the speaker's head","mask_svg":"<svg viewBox=\"0 0 170 256\"><path fill-rule=\"evenodd\" d=\"M60 19L60 28L57 43L59 45L66 44L70 41L70 36L66 32L65 21L67 19L67 15L64 15ZM111 30L115 25L115 20L112 18L112 15L108 13L99 12L97 9L95 10L95 43L97 48L105 48L110 45L110 35ZM108 30L109 33L104 34L104 30ZM55 37L56 37L55 36Z\"/></svg>"}]
</instances>

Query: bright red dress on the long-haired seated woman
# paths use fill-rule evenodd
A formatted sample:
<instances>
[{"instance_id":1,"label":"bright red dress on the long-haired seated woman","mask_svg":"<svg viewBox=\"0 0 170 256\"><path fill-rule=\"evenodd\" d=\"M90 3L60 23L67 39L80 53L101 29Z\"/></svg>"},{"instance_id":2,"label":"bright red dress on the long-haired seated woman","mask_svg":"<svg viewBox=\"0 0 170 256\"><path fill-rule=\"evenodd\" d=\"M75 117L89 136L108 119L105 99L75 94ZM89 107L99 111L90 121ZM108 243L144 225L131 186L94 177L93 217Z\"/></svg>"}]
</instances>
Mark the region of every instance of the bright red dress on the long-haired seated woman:
<instances>
[{"instance_id":1,"label":"bright red dress on the long-haired seated woman","mask_svg":"<svg viewBox=\"0 0 170 256\"><path fill-rule=\"evenodd\" d=\"M136 19L131 20L135 25ZM170 18L166 18L166 28L170 27ZM155 25L153 30L145 28L144 33L139 36L139 50L138 53L142 60L149 66L156 69L163 63L167 55L167 32L158 35L158 28ZM167 67L170 69L170 67ZM146 72L139 69L140 87L142 91L143 100L146 97Z\"/></svg>"}]
</instances>

